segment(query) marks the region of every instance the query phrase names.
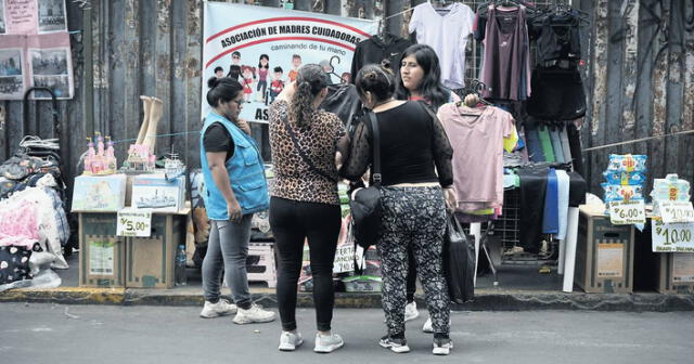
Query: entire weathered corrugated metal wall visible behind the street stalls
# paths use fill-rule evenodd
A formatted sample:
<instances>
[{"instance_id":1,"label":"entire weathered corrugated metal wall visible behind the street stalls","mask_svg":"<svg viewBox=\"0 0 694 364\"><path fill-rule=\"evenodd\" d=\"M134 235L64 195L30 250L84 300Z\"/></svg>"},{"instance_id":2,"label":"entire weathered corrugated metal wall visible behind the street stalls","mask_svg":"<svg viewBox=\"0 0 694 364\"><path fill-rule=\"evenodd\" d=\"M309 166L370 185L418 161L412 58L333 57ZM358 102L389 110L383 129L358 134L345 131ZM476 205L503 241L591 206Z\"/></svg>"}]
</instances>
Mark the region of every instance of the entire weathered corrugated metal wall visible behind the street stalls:
<instances>
[{"instance_id":1,"label":"entire weathered corrugated metal wall visible behind the street stalls","mask_svg":"<svg viewBox=\"0 0 694 364\"><path fill-rule=\"evenodd\" d=\"M294 9L380 18L424 1L294 0ZM59 102L67 182L77 173L85 138L93 131L125 141L117 145L123 160L128 140L137 136L142 120L140 95L164 100L158 133L176 134L157 140L157 154L174 148L189 165L197 166L203 1L66 2L68 28L81 30L72 35L76 96ZM464 2L475 9L480 1ZM584 147L692 129L694 32L686 30L686 17L693 16L693 2L574 1L590 13L593 24L583 29L589 95ZM279 0L262 3L280 5ZM408 18L408 14L389 18L386 27L404 35ZM50 102L30 102L28 130L23 128L21 102L0 105L7 108L0 160L13 153L25 134L51 135ZM267 141L260 126L254 127L254 134ZM599 192L607 154L629 152L650 155L652 177L677 171L694 180L694 136L683 135L586 154L592 191ZM269 154L267 147L265 154Z\"/></svg>"}]
</instances>

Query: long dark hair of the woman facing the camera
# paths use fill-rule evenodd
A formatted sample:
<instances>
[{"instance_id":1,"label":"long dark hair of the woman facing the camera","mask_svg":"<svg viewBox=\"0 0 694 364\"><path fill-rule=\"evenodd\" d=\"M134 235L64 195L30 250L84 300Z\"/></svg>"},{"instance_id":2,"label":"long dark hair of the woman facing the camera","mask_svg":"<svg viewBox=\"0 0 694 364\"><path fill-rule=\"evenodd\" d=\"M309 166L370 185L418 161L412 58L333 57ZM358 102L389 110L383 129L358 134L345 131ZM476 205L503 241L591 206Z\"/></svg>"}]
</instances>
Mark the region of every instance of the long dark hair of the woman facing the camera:
<instances>
[{"instance_id":1,"label":"long dark hair of the woman facing the camera","mask_svg":"<svg viewBox=\"0 0 694 364\"><path fill-rule=\"evenodd\" d=\"M416 63L422 67L424 76L417 90L429 103L434 109L438 109L450 99L450 90L441 84L441 68L438 63L438 56L433 48L426 44L413 44L402 52L402 58L400 58L400 65L396 68L396 87L395 96L399 100L408 100L410 98L410 90L404 88L402 83L402 76L400 76L400 66L402 60L414 55Z\"/></svg>"}]
</instances>

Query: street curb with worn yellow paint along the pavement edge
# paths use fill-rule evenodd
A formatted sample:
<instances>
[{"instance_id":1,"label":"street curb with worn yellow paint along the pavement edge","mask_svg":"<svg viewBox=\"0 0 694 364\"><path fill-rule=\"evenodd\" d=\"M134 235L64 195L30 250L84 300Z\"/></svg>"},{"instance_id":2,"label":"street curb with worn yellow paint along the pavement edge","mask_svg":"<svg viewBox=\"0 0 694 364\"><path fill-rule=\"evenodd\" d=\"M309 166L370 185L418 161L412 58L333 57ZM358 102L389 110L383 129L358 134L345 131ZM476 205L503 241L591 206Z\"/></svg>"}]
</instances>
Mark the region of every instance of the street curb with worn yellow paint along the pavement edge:
<instances>
[{"instance_id":1,"label":"street curb with worn yellow paint along the pavement edge","mask_svg":"<svg viewBox=\"0 0 694 364\"><path fill-rule=\"evenodd\" d=\"M252 289L253 299L264 307L277 307L277 295L271 288ZM426 307L421 295L420 307ZM116 304L116 306L203 306L200 287L176 289L86 288L60 287L54 289L13 289L0 292L0 302L39 302L60 304ZM297 307L313 307L310 292L299 292ZM338 292L336 308L380 309L381 294ZM660 294L583 294L557 291L513 291L479 289L472 302L451 307L454 311L535 311L588 310L630 312L694 311L694 295Z\"/></svg>"}]
</instances>

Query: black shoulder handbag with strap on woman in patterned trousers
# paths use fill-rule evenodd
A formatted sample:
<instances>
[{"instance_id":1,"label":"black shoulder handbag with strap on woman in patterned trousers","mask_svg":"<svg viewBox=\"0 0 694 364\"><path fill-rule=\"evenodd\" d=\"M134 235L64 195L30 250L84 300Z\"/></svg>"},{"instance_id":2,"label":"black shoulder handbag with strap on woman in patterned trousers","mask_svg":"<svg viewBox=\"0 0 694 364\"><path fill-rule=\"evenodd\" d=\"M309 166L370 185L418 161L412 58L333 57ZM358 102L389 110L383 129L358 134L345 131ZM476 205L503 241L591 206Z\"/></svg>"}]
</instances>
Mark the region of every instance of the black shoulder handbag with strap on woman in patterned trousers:
<instances>
[{"instance_id":1,"label":"black shoulder handbag with strap on woman in patterned trousers","mask_svg":"<svg viewBox=\"0 0 694 364\"><path fill-rule=\"evenodd\" d=\"M378 123L374 113L369 113L371 129L373 131L373 165L371 176L373 183L357 191L355 198L349 202L351 210L352 230L355 240L367 249L376 244L378 230L381 229L381 140L378 136Z\"/></svg>"}]
</instances>

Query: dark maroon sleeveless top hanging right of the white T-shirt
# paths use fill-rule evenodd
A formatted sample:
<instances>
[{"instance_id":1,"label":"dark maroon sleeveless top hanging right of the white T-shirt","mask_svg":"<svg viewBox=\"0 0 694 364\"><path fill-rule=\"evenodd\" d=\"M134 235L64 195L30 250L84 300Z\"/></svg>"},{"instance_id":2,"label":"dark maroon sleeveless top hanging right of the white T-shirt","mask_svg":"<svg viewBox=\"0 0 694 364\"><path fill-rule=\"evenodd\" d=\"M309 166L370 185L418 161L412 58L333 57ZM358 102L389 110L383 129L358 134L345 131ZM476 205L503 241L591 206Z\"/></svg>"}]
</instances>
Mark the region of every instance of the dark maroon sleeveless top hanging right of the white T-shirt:
<instances>
[{"instance_id":1,"label":"dark maroon sleeveless top hanging right of the white T-shirt","mask_svg":"<svg viewBox=\"0 0 694 364\"><path fill-rule=\"evenodd\" d=\"M530 77L527 75L529 42L525 8L502 10L489 5L488 16L481 77L487 89L483 95L524 100L530 93L527 90Z\"/></svg>"}]
</instances>

